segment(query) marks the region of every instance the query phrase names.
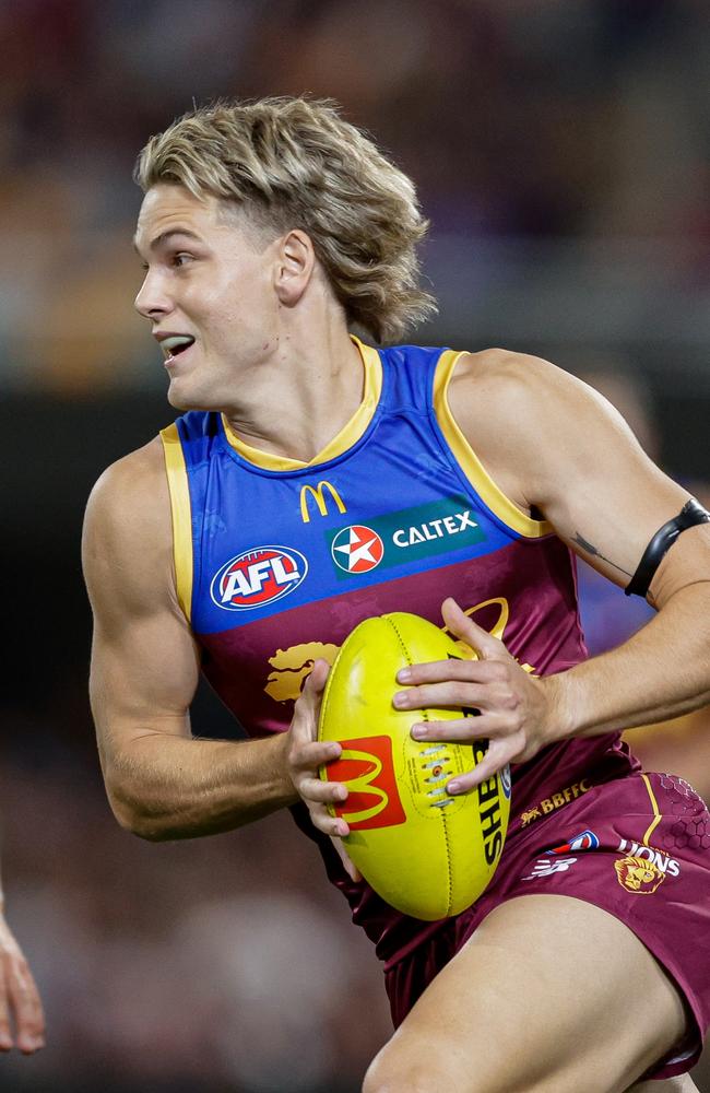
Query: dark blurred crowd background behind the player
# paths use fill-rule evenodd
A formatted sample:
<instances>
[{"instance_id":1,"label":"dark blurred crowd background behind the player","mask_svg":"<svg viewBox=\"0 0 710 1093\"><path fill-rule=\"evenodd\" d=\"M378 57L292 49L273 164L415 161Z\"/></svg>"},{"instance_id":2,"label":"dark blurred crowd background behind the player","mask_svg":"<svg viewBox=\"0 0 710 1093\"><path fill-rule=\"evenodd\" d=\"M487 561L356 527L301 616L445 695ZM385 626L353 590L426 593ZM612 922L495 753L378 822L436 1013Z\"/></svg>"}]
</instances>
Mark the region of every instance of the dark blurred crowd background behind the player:
<instances>
[{"instance_id":1,"label":"dark blurred crowd background behind the player","mask_svg":"<svg viewBox=\"0 0 710 1093\"><path fill-rule=\"evenodd\" d=\"M103 795L82 510L173 418L132 310L132 164L193 101L336 98L433 222L440 316L416 340L590 378L708 503L710 10L4 0L0 57L2 868L48 1014L48 1046L1 1058L0 1088L353 1093L389 1034L381 975L289 819L143 844ZM643 621L582 587L593 650ZM196 706L201 734L238 734L209 694ZM703 718L641 747L708 792Z\"/></svg>"}]
</instances>

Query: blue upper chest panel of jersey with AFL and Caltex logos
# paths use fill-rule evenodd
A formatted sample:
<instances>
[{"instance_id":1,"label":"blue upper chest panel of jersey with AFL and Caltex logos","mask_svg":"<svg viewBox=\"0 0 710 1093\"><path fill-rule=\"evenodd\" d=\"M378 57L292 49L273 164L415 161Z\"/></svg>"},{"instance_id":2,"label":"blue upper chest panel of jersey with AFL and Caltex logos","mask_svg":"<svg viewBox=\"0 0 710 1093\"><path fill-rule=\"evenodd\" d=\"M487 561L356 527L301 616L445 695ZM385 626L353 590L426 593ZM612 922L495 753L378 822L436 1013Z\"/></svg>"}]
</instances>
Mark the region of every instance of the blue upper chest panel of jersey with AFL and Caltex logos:
<instances>
[{"instance_id":1,"label":"blue upper chest panel of jersey with AFL and Caltex logos","mask_svg":"<svg viewBox=\"0 0 710 1093\"><path fill-rule=\"evenodd\" d=\"M518 538L481 502L433 428L440 353L380 351L382 391L369 425L316 467L268 470L235 450L218 414L180 419L196 633L473 561Z\"/></svg>"}]
</instances>

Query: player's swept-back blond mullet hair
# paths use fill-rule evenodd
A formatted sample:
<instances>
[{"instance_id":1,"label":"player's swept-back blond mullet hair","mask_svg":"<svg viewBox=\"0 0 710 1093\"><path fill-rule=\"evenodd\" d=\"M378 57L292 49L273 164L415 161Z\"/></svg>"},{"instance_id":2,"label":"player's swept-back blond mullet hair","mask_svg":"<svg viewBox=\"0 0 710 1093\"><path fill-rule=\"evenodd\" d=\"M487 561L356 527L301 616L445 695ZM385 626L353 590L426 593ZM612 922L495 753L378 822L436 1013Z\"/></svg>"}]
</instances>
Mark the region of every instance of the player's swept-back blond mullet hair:
<instances>
[{"instance_id":1,"label":"player's swept-back blond mullet hair","mask_svg":"<svg viewBox=\"0 0 710 1093\"><path fill-rule=\"evenodd\" d=\"M418 286L426 234L414 185L330 99L217 102L178 118L139 155L145 191L177 183L310 236L347 321L395 341L436 310Z\"/></svg>"}]
</instances>

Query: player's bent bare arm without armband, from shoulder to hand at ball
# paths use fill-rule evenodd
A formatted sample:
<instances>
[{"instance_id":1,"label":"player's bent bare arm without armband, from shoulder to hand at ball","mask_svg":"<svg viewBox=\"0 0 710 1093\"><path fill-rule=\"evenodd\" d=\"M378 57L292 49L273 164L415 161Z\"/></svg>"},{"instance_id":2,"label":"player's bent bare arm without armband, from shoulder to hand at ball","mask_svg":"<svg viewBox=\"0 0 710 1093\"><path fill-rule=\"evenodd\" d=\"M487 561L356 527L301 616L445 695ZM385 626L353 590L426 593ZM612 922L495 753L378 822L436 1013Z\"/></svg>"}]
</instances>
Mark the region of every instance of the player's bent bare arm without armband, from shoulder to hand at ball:
<instances>
[{"instance_id":1,"label":"player's bent bare arm without armband, from shoulder to hand at ball","mask_svg":"<svg viewBox=\"0 0 710 1093\"><path fill-rule=\"evenodd\" d=\"M99 479L83 541L106 789L119 823L151 839L227 831L291 804L301 771L332 757L332 748L310 744L315 684L288 733L192 737L199 651L177 601L171 543L163 453L153 442Z\"/></svg>"}]
</instances>

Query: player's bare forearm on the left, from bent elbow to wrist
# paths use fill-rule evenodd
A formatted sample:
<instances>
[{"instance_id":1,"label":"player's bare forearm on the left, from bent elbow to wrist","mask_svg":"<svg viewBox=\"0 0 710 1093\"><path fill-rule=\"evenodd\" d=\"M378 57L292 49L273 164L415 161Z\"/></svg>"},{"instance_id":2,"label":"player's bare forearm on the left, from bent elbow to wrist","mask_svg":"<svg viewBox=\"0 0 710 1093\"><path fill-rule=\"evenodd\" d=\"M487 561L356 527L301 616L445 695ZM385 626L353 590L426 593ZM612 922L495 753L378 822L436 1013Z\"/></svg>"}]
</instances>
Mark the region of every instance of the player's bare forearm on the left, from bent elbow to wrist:
<instances>
[{"instance_id":1,"label":"player's bare forearm on the left, from bent elbow to wrist","mask_svg":"<svg viewBox=\"0 0 710 1093\"><path fill-rule=\"evenodd\" d=\"M292 804L297 796L281 733L260 740L200 740L150 732L103 756L119 823L150 839L230 831Z\"/></svg>"}]
</instances>

